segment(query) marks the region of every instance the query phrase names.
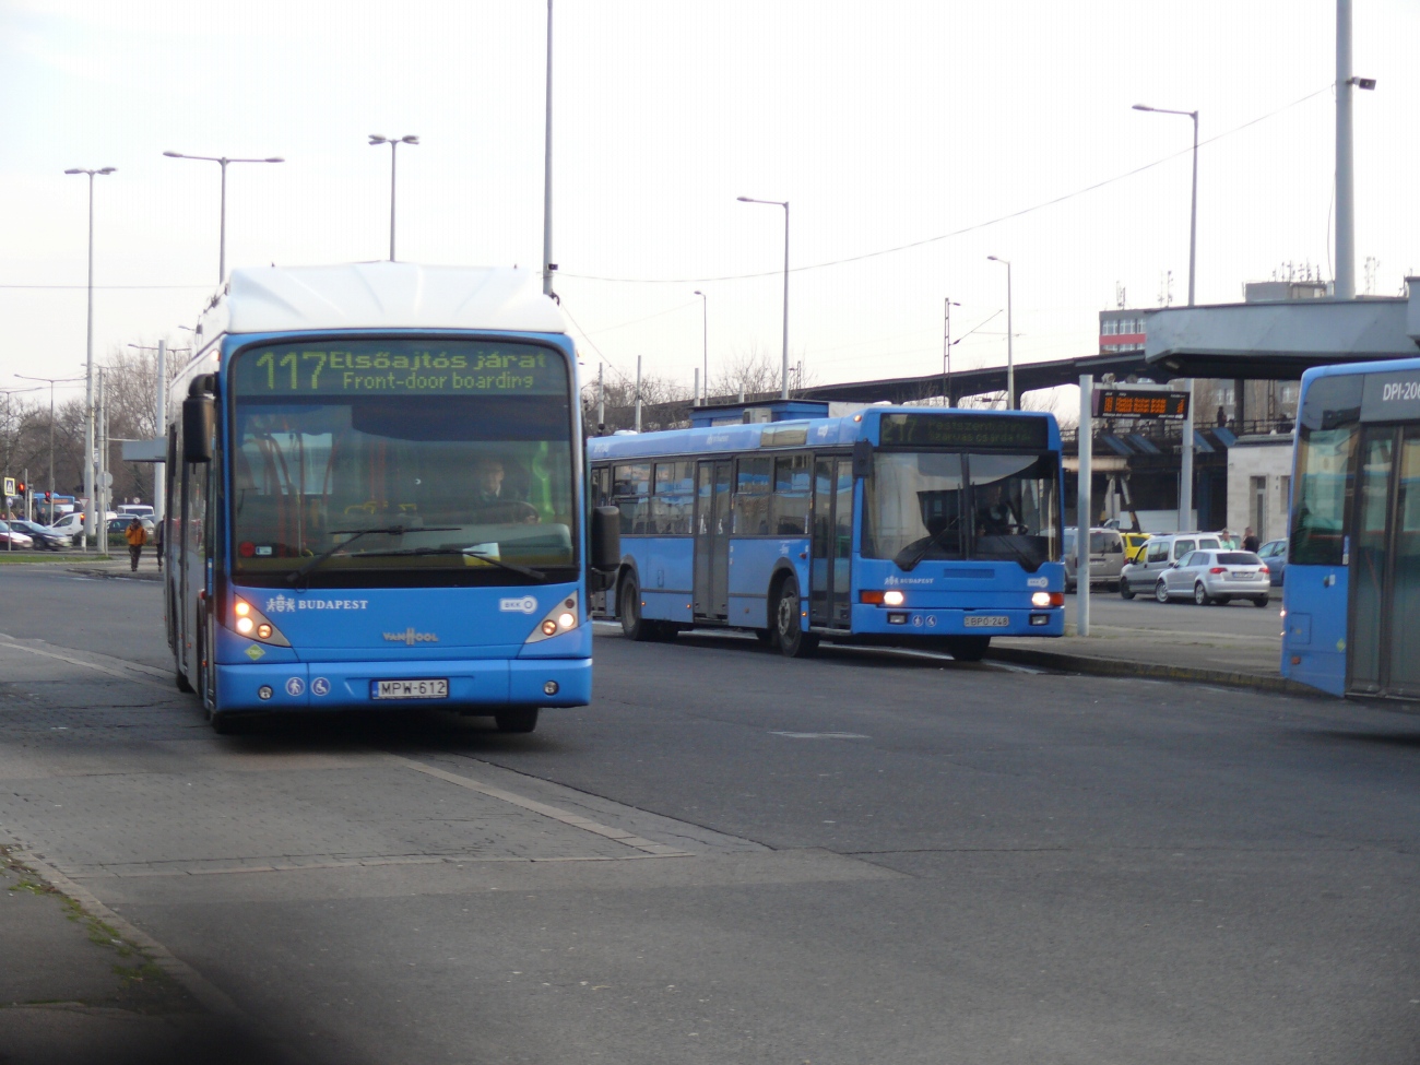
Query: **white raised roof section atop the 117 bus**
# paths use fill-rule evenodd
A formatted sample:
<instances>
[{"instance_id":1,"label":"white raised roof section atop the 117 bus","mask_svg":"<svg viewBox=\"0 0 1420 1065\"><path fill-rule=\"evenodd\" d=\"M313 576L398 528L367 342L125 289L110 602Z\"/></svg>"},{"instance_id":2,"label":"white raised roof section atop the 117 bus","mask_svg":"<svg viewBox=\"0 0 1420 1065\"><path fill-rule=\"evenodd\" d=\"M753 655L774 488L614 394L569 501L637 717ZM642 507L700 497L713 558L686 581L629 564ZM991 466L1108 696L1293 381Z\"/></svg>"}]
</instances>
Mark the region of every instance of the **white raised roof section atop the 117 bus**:
<instances>
[{"instance_id":1,"label":"white raised roof section atop the 117 bus","mask_svg":"<svg viewBox=\"0 0 1420 1065\"><path fill-rule=\"evenodd\" d=\"M531 271L415 263L233 270L202 322L206 341L223 332L302 329L565 334L567 324Z\"/></svg>"}]
</instances>

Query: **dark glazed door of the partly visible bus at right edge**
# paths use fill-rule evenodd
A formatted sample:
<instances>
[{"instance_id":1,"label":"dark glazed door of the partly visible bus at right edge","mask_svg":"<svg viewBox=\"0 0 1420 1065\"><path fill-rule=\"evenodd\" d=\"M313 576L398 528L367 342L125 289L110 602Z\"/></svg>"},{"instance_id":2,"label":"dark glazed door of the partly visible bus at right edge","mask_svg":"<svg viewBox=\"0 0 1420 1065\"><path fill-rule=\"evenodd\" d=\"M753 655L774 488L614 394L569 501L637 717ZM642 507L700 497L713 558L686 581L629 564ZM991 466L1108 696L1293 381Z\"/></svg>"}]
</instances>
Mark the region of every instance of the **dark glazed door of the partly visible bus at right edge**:
<instances>
[{"instance_id":1,"label":"dark glazed door of the partly visible bus at right edge","mask_svg":"<svg viewBox=\"0 0 1420 1065\"><path fill-rule=\"evenodd\" d=\"M1420 426L1367 429L1350 547L1348 692L1420 697Z\"/></svg>"}]
</instances>

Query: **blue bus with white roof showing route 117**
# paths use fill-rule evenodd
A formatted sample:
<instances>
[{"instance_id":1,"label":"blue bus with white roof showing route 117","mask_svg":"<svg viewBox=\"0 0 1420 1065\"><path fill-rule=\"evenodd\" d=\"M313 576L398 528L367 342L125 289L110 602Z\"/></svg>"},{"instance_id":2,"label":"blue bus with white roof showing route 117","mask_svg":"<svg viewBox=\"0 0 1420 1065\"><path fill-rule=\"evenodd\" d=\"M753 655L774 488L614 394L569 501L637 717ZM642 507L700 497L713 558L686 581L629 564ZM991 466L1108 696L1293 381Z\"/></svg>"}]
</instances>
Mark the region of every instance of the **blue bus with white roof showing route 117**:
<instances>
[{"instance_id":1,"label":"blue bus with white roof showing route 117","mask_svg":"<svg viewBox=\"0 0 1420 1065\"><path fill-rule=\"evenodd\" d=\"M393 707L527 733L589 701L616 515L585 506L574 346L525 271L236 270L195 337L165 605L219 733Z\"/></svg>"}]
</instances>

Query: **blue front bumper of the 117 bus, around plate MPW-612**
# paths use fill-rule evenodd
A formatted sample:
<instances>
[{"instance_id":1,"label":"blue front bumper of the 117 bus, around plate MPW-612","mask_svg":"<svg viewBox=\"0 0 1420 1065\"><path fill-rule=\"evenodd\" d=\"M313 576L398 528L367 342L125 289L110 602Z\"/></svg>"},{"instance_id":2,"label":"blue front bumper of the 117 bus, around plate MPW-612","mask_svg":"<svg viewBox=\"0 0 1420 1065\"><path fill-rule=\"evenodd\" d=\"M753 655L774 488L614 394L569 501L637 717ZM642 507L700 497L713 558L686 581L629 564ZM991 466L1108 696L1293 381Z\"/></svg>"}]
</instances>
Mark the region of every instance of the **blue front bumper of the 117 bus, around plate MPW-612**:
<instances>
[{"instance_id":1,"label":"blue front bumper of the 117 bus, around plate MPW-612","mask_svg":"<svg viewBox=\"0 0 1420 1065\"><path fill-rule=\"evenodd\" d=\"M376 699L378 682L446 680L446 697ZM444 659L219 665L217 709L231 710L469 710L504 706L586 706L588 659Z\"/></svg>"}]
</instances>

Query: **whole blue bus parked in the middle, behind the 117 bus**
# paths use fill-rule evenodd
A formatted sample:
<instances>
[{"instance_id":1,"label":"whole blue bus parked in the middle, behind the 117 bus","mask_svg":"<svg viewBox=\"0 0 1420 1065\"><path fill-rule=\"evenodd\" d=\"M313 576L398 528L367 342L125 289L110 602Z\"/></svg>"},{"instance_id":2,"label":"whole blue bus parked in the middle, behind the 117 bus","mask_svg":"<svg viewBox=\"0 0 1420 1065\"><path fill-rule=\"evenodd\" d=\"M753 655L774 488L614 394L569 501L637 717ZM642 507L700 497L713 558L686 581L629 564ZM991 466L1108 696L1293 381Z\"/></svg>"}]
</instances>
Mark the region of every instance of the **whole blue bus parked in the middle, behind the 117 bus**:
<instances>
[{"instance_id":1,"label":"whole blue bus parked in the middle, behind the 117 bus","mask_svg":"<svg viewBox=\"0 0 1420 1065\"><path fill-rule=\"evenodd\" d=\"M868 408L586 450L621 515L604 613L630 639L731 626L791 657L828 639L980 659L991 636L1065 632L1049 415Z\"/></svg>"}]
</instances>

